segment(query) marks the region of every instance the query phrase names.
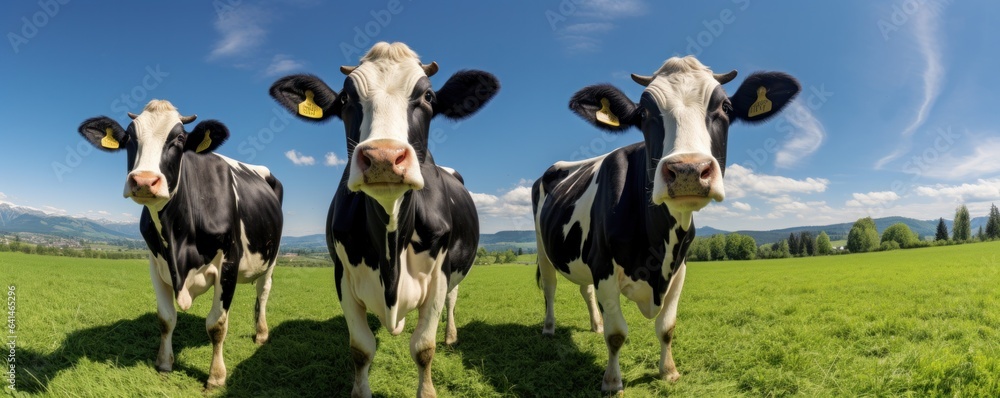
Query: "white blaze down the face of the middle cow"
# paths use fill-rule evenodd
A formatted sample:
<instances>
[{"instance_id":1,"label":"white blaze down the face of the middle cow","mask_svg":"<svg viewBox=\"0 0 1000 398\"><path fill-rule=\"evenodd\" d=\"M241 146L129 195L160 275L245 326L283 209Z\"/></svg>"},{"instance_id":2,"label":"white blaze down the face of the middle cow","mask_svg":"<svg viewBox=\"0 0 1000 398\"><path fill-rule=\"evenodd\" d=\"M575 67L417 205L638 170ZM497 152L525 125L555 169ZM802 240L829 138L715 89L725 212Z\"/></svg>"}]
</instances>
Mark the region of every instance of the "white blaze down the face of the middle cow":
<instances>
[{"instance_id":1,"label":"white blaze down the face of the middle cow","mask_svg":"<svg viewBox=\"0 0 1000 398\"><path fill-rule=\"evenodd\" d=\"M417 164L416 152L409 144L409 103L417 81L426 76L420 66L420 58L403 43L376 44L348 76L354 81L364 112L358 146L374 140L396 141L407 154L408 163L401 165L406 169L404 181L410 181L417 189L423 187L424 179ZM347 186L353 191L364 188L358 159L363 156L360 152L355 150L351 155L353 159Z\"/></svg>"}]
</instances>

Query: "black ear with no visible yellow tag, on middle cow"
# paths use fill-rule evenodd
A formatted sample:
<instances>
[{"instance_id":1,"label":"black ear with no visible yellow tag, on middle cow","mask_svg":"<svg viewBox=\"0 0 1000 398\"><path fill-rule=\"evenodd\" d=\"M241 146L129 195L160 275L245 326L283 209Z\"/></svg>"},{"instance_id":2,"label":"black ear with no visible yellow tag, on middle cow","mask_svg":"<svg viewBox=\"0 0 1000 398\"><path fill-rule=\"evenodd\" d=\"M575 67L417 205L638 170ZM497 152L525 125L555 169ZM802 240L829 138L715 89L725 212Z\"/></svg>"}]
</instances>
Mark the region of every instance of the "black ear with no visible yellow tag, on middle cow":
<instances>
[{"instance_id":1,"label":"black ear with no visible yellow tag, on middle cow","mask_svg":"<svg viewBox=\"0 0 1000 398\"><path fill-rule=\"evenodd\" d=\"M434 116L464 119L479 111L500 91L496 76L481 70L455 73L434 93Z\"/></svg>"}]
</instances>

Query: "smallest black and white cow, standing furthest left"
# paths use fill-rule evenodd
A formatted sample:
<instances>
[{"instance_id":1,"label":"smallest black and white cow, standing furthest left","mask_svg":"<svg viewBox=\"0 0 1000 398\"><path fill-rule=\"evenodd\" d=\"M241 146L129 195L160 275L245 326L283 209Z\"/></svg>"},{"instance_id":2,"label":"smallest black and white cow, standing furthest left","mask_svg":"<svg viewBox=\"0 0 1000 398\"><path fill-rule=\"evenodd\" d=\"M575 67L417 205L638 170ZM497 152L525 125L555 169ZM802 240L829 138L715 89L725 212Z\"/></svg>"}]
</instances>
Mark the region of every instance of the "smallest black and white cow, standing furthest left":
<instances>
[{"instance_id":1,"label":"smallest black and white cow, standing furthest left","mask_svg":"<svg viewBox=\"0 0 1000 398\"><path fill-rule=\"evenodd\" d=\"M222 344L237 282L256 282L255 339L267 341L265 307L281 238L281 183L266 167L212 153L229 137L218 121L185 132L184 124L195 116L181 116L163 100L129 116L132 123L125 129L101 116L83 122L79 131L98 149L128 154L125 197L144 206L139 227L149 246L160 318L156 368L173 368L174 300L187 311L195 297L214 288L205 319L212 341L207 386L224 385Z\"/></svg>"}]
</instances>

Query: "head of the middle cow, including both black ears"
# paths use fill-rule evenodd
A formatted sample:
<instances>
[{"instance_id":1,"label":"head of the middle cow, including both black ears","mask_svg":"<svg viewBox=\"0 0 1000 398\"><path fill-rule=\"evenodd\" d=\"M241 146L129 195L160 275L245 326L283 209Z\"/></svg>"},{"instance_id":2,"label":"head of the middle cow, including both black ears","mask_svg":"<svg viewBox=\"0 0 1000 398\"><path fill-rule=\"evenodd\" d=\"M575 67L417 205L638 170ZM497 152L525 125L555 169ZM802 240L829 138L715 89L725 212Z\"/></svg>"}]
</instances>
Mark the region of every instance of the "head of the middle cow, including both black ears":
<instances>
[{"instance_id":1,"label":"head of the middle cow, including both black ears","mask_svg":"<svg viewBox=\"0 0 1000 398\"><path fill-rule=\"evenodd\" d=\"M430 77L437 63L421 64L403 43L381 42L347 75L338 94L311 75L293 75L271 86L271 96L289 112L311 122L337 117L347 133L347 188L383 206L411 189L421 189L420 165L431 158L428 128L438 115L471 116L500 89L493 75L460 71L435 91Z\"/></svg>"}]
</instances>

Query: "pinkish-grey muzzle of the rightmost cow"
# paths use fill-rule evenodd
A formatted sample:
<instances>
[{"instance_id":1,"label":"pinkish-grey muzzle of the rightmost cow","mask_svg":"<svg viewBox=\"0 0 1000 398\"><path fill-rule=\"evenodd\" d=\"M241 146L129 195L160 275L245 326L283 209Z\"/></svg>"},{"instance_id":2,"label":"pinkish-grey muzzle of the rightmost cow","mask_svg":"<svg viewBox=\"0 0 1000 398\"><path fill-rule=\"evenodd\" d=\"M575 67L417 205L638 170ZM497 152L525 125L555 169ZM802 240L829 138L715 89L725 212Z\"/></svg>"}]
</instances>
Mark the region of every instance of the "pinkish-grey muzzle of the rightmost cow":
<instances>
[{"instance_id":1,"label":"pinkish-grey muzzle of the rightmost cow","mask_svg":"<svg viewBox=\"0 0 1000 398\"><path fill-rule=\"evenodd\" d=\"M665 159L660 164L659 184L654 184L654 203L665 203L680 211L698 211L725 194L722 173L710 156L687 155ZM656 189L659 185L660 189Z\"/></svg>"}]
</instances>

